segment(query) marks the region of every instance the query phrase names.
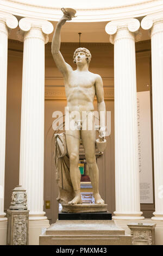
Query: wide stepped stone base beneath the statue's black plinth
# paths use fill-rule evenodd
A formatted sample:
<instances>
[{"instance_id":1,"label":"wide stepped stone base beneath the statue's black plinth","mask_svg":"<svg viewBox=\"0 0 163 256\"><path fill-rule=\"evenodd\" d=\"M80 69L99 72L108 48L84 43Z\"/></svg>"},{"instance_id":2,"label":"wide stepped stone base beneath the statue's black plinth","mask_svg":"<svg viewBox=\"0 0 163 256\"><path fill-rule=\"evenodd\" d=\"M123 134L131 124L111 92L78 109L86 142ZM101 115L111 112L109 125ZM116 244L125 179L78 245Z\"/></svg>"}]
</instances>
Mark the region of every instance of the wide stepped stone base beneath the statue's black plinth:
<instances>
[{"instance_id":1,"label":"wide stepped stone base beneath the statue's black plinth","mask_svg":"<svg viewBox=\"0 0 163 256\"><path fill-rule=\"evenodd\" d=\"M43 235L40 245L131 245L131 236L109 220L57 220Z\"/></svg>"}]
</instances>

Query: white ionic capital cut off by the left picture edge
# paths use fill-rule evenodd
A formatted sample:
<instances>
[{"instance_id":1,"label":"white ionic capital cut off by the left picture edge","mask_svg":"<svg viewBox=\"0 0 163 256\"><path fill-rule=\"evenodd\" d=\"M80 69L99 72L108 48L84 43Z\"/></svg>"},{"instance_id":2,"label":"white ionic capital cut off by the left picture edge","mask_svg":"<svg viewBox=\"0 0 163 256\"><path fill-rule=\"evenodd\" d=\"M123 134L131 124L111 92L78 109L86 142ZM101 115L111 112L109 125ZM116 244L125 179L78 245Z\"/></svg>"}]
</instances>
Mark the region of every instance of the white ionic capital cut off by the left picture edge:
<instances>
[{"instance_id":1,"label":"white ionic capital cut off by the left picture edge","mask_svg":"<svg viewBox=\"0 0 163 256\"><path fill-rule=\"evenodd\" d=\"M11 29L16 28L18 21L14 15L0 11L0 32L8 35Z\"/></svg>"}]
</instances>

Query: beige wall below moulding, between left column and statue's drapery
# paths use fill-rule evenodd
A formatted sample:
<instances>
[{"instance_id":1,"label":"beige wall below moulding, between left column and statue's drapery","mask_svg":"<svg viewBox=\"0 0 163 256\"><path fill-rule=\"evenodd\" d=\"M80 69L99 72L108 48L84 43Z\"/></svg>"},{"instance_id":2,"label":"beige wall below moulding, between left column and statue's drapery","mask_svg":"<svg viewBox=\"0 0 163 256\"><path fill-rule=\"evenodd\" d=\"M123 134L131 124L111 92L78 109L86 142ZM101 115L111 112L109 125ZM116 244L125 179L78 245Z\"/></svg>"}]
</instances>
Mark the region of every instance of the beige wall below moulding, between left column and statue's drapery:
<instances>
[{"instance_id":1,"label":"beige wall below moulding, between left column and statue's drapery","mask_svg":"<svg viewBox=\"0 0 163 256\"><path fill-rule=\"evenodd\" d=\"M54 167L54 130L52 123L55 118L52 118L54 111L61 111L64 113L66 100L46 100L45 101L45 174L44 174L44 200L51 201L51 208L44 209L46 216L52 222L58 218L58 187L55 180L55 167Z\"/></svg>"}]
</instances>

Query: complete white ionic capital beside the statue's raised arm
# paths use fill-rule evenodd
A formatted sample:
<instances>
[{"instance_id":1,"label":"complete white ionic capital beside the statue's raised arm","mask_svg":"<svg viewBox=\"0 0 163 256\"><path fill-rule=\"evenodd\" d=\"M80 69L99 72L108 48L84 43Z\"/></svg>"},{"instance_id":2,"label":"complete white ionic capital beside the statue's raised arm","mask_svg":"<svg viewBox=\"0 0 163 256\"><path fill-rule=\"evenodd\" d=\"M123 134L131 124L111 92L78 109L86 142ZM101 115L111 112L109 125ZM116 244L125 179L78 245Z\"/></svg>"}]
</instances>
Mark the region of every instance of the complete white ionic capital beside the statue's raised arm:
<instances>
[{"instance_id":1,"label":"complete white ionic capital beside the statue's raised arm","mask_svg":"<svg viewBox=\"0 0 163 256\"><path fill-rule=\"evenodd\" d=\"M27 38L39 38L47 44L48 34L53 32L53 25L46 20L23 18L19 21L18 39L24 41Z\"/></svg>"}]
</instances>

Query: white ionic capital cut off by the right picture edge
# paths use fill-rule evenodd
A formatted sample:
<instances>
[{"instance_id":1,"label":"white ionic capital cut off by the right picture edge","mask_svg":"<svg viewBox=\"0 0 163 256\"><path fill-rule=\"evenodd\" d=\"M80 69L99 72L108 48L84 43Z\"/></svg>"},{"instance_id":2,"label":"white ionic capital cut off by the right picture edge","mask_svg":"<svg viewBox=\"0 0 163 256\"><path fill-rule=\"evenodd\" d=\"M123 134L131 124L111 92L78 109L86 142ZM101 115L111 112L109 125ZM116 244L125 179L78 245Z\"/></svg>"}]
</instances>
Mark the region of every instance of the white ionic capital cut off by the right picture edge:
<instances>
[{"instance_id":1,"label":"white ionic capital cut off by the right picture edge","mask_svg":"<svg viewBox=\"0 0 163 256\"><path fill-rule=\"evenodd\" d=\"M156 26L153 26L156 25ZM163 13L147 15L141 21L141 27L145 30L152 29L152 34L163 32Z\"/></svg>"}]
</instances>

